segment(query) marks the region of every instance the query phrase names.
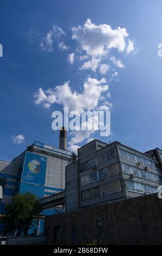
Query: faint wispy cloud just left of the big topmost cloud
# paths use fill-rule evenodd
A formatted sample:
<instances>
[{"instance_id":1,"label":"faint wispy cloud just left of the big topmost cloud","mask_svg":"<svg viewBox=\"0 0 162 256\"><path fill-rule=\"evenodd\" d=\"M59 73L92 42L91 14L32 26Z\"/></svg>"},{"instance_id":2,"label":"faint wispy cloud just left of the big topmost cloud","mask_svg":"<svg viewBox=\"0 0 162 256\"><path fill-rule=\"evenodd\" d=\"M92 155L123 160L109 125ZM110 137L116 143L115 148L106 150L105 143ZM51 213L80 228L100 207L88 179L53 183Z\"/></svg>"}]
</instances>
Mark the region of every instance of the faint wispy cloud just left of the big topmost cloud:
<instances>
[{"instance_id":1,"label":"faint wispy cloud just left of the big topmost cloud","mask_svg":"<svg viewBox=\"0 0 162 256\"><path fill-rule=\"evenodd\" d=\"M66 50L65 48L67 46L65 45L64 41L60 42L61 35L66 35L63 29L61 29L57 25L52 26L52 29L47 32L46 36L40 42L41 49L46 52L52 52L54 40L57 39L59 48L61 48L62 50Z\"/></svg>"}]
</instances>

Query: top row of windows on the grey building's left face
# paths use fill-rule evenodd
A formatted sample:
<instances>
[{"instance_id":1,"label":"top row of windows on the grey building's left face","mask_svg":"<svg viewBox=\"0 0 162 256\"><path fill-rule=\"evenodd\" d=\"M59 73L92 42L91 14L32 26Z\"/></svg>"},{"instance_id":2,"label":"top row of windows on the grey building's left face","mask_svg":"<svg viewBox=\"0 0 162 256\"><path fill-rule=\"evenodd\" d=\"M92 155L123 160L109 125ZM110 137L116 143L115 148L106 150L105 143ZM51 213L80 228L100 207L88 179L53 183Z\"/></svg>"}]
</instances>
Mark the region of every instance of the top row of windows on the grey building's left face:
<instances>
[{"instance_id":1,"label":"top row of windows on the grey building's left face","mask_svg":"<svg viewBox=\"0 0 162 256\"><path fill-rule=\"evenodd\" d=\"M106 153L95 157L94 159L91 159L87 162L81 163L80 171L87 170L89 168L92 168L93 166L97 166L97 164L104 163L105 161L107 161L115 156L116 156L115 149L111 149L111 150L107 151Z\"/></svg>"}]
</instances>

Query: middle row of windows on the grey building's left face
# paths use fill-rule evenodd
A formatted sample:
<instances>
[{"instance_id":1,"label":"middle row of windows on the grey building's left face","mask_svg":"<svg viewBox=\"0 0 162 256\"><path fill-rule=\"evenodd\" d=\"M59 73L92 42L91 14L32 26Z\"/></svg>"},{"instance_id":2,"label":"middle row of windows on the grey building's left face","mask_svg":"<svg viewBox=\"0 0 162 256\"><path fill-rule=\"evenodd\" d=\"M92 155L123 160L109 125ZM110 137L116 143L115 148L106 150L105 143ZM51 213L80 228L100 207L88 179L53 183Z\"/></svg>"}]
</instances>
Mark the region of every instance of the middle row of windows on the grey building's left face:
<instances>
[{"instance_id":1,"label":"middle row of windows on the grey building's left face","mask_svg":"<svg viewBox=\"0 0 162 256\"><path fill-rule=\"evenodd\" d=\"M111 176L116 173L119 173L118 163L112 164L111 166L105 167L101 170L97 170L96 172L92 172L88 175L83 176L81 178L81 186L99 180L101 178Z\"/></svg>"}]
</instances>

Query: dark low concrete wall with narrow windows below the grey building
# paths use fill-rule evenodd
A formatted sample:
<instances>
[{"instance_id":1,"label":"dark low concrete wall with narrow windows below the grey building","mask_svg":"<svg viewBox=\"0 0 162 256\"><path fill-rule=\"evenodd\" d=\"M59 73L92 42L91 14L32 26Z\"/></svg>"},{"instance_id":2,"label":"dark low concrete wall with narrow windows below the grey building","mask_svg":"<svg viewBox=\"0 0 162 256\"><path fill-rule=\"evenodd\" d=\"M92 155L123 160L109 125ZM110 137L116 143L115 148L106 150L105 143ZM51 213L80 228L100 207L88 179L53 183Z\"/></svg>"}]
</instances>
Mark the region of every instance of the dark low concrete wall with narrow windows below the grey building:
<instances>
[{"instance_id":1,"label":"dark low concrete wall with narrow windows below the grey building","mask_svg":"<svg viewBox=\"0 0 162 256\"><path fill-rule=\"evenodd\" d=\"M162 243L162 199L158 199L157 193L46 216L45 230L50 242L56 240L55 243L60 244L63 242L63 226L66 226L66 243L69 244L73 241L72 225L76 225L76 243L82 244L85 242L85 227L86 242L98 240L98 221L103 223L102 242L108 245Z\"/></svg>"}]
</instances>

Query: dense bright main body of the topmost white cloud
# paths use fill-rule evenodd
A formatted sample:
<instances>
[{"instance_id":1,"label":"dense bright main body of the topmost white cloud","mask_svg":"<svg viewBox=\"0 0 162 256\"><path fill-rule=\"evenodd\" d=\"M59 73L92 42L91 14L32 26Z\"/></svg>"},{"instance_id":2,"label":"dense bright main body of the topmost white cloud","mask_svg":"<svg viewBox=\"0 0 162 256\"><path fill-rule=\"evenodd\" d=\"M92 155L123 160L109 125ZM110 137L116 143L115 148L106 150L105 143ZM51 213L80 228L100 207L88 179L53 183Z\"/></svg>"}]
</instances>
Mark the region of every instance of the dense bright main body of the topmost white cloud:
<instances>
[{"instance_id":1,"label":"dense bright main body of the topmost white cloud","mask_svg":"<svg viewBox=\"0 0 162 256\"><path fill-rule=\"evenodd\" d=\"M72 28L72 39L91 56L103 56L110 48L123 52L127 36L126 28L112 29L107 24L95 25L90 19L83 26Z\"/></svg>"}]
</instances>

